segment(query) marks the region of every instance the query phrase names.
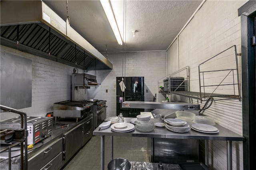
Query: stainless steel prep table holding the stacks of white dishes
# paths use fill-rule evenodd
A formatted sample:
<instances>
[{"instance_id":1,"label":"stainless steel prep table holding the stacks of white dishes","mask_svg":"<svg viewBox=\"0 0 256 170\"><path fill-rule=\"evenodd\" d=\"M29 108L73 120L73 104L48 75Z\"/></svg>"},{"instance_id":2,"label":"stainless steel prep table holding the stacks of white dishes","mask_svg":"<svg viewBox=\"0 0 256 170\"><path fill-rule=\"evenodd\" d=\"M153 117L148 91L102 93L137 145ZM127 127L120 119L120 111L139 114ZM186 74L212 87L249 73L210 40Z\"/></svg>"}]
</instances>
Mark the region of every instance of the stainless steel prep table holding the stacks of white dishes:
<instances>
[{"instance_id":1,"label":"stainless steel prep table holding the stacks of white dishes","mask_svg":"<svg viewBox=\"0 0 256 170\"><path fill-rule=\"evenodd\" d=\"M124 122L130 122L132 118L125 118ZM151 119L151 121L158 122L158 119ZM125 137L150 137L150 138L169 138L169 139L198 139L198 140L206 140L206 158L208 166L208 140L217 140L217 141L226 141L227 143L227 169L232 170L232 141L244 141L244 137L238 135L220 125L216 124L220 132L216 134L212 133L200 133L194 130L190 130L187 133L175 133L167 130L164 127L156 127L154 131L151 132L140 132L136 129L131 132L126 133L118 133L111 130L111 127L107 129L100 129L97 127L93 131L93 135L101 136L101 170L104 170L104 137L110 136L110 158L113 159L113 136L125 136Z\"/></svg>"}]
</instances>

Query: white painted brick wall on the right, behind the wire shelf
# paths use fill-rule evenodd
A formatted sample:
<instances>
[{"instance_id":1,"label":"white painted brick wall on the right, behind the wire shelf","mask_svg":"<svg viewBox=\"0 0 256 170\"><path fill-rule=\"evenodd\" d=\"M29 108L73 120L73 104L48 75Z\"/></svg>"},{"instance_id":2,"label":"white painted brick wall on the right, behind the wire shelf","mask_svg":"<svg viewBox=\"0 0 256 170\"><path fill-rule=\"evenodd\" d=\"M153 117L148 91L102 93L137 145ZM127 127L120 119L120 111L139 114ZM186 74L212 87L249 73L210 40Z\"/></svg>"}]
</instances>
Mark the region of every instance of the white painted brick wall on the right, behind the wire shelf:
<instances>
[{"instance_id":1,"label":"white painted brick wall on the right, behind the wire shelf","mask_svg":"<svg viewBox=\"0 0 256 170\"><path fill-rule=\"evenodd\" d=\"M237 10L246 2L207 0L179 35L179 61L176 60L177 51L175 48L177 43L173 43L173 47L171 46L168 49L167 61L176 62L177 65L179 64L179 68L190 66L190 91L199 92L198 65L200 63L232 45L237 46L238 53L241 52L241 26ZM238 64L241 82L241 57L239 56ZM220 58L216 58L202 66L204 70L220 70L234 67L233 49L231 52L224 53ZM177 71L169 65L167 65L167 70ZM207 85L214 84L214 82L222 80L223 77L221 72L212 73L205 77L205 83ZM232 82L232 78L228 76L224 82ZM216 92L230 94L231 89L228 86L222 86ZM189 102L188 99L182 99ZM193 102L197 103L197 100L193 100ZM204 104L205 102L200 104L201 107ZM242 135L242 102L238 100L214 101L212 106L203 113L213 117L216 123L221 126ZM232 147L233 170L243 169L242 142L233 142ZM209 148L210 165L216 170L226 169L226 142L211 141Z\"/></svg>"}]
</instances>

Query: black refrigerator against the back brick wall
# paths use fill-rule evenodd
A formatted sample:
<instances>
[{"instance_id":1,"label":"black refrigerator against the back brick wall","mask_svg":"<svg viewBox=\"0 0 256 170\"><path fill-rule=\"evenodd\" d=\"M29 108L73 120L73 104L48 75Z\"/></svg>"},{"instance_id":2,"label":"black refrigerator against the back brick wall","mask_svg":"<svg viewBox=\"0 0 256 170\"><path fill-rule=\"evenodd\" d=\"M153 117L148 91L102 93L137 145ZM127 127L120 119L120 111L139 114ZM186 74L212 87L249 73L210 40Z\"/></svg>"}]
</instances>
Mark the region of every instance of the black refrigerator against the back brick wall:
<instances>
[{"instance_id":1,"label":"black refrigerator against the back brick wall","mask_svg":"<svg viewBox=\"0 0 256 170\"><path fill-rule=\"evenodd\" d=\"M144 101L144 77L123 77L126 89L122 92L120 82L122 77L116 77L116 115L122 113L124 117L136 117L144 109L122 108L124 101Z\"/></svg>"}]
</instances>

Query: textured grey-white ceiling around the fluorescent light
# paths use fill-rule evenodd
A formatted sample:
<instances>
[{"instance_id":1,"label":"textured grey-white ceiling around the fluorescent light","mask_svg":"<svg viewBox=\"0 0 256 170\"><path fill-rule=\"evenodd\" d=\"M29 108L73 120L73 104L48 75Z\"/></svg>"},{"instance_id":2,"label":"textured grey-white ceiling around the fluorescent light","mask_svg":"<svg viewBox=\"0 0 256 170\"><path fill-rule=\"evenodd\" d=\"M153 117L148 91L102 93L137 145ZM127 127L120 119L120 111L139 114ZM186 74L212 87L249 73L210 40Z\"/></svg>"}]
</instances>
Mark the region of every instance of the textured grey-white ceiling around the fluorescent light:
<instances>
[{"instance_id":1,"label":"textured grey-white ceiling around the fluorescent light","mask_svg":"<svg viewBox=\"0 0 256 170\"><path fill-rule=\"evenodd\" d=\"M43 0L101 53L166 50L202 0L111 0L123 45L118 45L99 0ZM136 29L133 37L132 30Z\"/></svg>"}]
</instances>

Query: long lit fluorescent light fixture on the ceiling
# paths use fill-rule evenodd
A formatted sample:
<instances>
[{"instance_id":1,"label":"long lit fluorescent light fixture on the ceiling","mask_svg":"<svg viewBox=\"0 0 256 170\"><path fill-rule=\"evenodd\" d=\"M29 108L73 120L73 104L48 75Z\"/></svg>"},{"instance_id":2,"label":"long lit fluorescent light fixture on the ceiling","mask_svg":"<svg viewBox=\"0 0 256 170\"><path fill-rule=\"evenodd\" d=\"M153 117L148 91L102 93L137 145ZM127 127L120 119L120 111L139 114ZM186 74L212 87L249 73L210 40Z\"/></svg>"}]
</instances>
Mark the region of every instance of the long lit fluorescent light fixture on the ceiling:
<instances>
[{"instance_id":1,"label":"long lit fluorescent light fixture on the ceiling","mask_svg":"<svg viewBox=\"0 0 256 170\"><path fill-rule=\"evenodd\" d=\"M102 5L102 7L103 7L103 9L106 13L106 16L108 18L108 21L110 23L110 26L111 26L113 32L114 32L114 35L116 37L116 40L117 40L118 44L122 45L123 41L122 41L122 38L121 38L121 35L120 35L120 32L119 32L118 26L116 24L116 20L115 20L112 8L110 6L109 0L100 0L100 3L101 3L101 5Z\"/></svg>"}]
</instances>

